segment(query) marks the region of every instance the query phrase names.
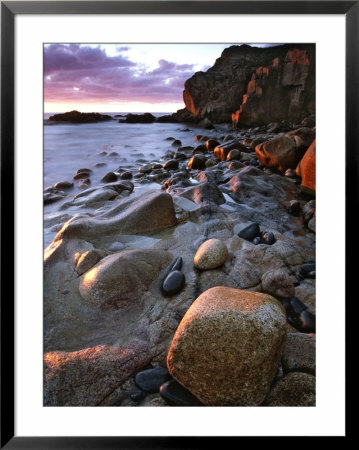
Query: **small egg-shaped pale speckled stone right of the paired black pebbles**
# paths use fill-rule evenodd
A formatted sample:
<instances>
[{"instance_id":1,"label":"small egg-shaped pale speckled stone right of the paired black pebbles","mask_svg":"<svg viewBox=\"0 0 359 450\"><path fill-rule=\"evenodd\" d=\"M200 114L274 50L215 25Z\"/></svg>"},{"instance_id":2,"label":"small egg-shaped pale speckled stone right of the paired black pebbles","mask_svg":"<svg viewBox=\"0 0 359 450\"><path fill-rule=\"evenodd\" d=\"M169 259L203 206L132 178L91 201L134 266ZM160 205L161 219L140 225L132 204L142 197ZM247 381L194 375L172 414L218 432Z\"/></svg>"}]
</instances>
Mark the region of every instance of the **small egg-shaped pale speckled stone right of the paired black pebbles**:
<instances>
[{"instance_id":1,"label":"small egg-shaped pale speckled stone right of the paired black pebbles","mask_svg":"<svg viewBox=\"0 0 359 450\"><path fill-rule=\"evenodd\" d=\"M226 245L219 239L205 241L197 250L193 258L196 269L208 270L220 267L228 257Z\"/></svg>"}]
</instances>

